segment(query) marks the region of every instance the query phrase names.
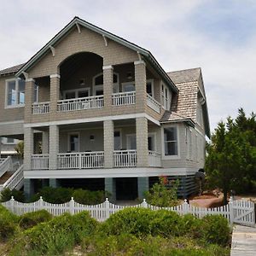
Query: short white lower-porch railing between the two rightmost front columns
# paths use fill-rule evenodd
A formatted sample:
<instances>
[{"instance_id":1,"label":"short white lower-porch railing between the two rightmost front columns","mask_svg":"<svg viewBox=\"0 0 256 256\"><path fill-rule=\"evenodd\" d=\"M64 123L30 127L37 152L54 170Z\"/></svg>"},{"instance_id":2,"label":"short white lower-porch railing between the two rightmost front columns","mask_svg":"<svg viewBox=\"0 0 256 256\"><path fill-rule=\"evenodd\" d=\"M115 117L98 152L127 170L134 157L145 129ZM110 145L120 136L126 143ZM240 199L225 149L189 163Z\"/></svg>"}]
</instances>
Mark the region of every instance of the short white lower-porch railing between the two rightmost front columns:
<instances>
[{"instance_id":1,"label":"short white lower-porch railing between the two rightmost front columns","mask_svg":"<svg viewBox=\"0 0 256 256\"><path fill-rule=\"evenodd\" d=\"M137 150L115 150L113 151L114 167L137 166Z\"/></svg>"}]
</instances>

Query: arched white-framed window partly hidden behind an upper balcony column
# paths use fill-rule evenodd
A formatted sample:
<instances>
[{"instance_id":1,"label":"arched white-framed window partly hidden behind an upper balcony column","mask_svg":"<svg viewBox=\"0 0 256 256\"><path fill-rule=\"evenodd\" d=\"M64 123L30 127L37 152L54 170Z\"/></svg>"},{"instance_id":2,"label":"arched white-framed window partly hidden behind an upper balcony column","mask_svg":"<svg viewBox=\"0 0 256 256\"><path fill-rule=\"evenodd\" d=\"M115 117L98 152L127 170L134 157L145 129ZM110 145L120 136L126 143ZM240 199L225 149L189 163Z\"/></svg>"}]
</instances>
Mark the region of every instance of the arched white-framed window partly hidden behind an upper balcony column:
<instances>
[{"instance_id":1,"label":"arched white-framed window partly hidden behind an upper balcony column","mask_svg":"<svg viewBox=\"0 0 256 256\"><path fill-rule=\"evenodd\" d=\"M119 92L119 74L113 73L113 93ZM96 74L93 77L93 95L103 95L103 73Z\"/></svg>"}]
</instances>

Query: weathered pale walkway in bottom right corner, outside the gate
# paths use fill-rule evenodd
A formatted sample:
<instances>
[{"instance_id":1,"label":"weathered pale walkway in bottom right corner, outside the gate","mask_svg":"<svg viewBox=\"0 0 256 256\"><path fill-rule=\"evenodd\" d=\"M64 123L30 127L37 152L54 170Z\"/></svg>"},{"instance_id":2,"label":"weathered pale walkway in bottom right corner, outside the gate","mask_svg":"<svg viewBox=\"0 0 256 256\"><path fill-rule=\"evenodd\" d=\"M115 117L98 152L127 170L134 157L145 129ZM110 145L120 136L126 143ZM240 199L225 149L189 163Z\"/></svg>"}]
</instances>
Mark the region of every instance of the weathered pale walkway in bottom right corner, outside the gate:
<instances>
[{"instance_id":1,"label":"weathered pale walkway in bottom right corner, outside the gate","mask_svg":"<svg viewBox=\"0 0 256 256\"><path fill-rule=\"evenodd\" d=\"M234 227L230 255L256 255L256 227L245 227L240 225Z\"/></svg>"}]
</instances>

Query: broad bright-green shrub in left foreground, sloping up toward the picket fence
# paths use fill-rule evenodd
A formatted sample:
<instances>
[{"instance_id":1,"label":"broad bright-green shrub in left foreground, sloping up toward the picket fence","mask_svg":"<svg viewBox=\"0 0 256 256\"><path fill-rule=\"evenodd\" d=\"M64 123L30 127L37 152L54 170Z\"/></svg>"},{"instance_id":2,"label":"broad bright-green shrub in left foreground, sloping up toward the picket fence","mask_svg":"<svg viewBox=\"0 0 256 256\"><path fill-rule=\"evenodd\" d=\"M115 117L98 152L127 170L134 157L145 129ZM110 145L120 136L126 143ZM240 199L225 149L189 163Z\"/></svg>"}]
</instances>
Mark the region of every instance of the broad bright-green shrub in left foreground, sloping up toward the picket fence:
<instances>
[{"instance_id":1,"label":"broad bright-green shrub in left foreground, sloping up toward the picket fence","mask_svg":"<svg viewBox=\"0 0 256 256\"><path fill-rule=\"evenodd\" d=\"M96 224L96 220L90 218L89 212L80 212L73 216L64 213L26 230L26 247L29 251L37 250L42 254L63 253L81 241L82 236L89 236L96 230Z\"/></svg>"}]
</instances>

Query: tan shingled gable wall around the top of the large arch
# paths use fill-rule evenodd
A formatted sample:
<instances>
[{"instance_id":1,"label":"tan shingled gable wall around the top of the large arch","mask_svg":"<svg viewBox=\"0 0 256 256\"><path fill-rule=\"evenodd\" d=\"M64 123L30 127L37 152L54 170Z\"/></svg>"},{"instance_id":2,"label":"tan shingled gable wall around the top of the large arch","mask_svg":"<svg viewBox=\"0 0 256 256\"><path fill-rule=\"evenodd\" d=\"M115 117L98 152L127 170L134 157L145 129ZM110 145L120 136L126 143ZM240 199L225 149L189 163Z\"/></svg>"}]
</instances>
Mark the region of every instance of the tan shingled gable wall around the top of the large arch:
<instances>
[{"instance_id":1,"label":"tan shingled gable wall around the top of the large arch","mask_svg":"<svg viewBox=\"0 0 256 256\"><path fill-rule=\"evenodd\" d=\"M133 62L138 59L135 51L109 39L106 47L102 35L96 32L81 27L81 33L79 33L77 28L73 28L64 40L55 45L55 56L49 50L37 65L27 71L29 77L38 78L59 73L58 67L61 61L79 52L92 52L102 56L104 66Z\"/></svg>"}]
</instances>

